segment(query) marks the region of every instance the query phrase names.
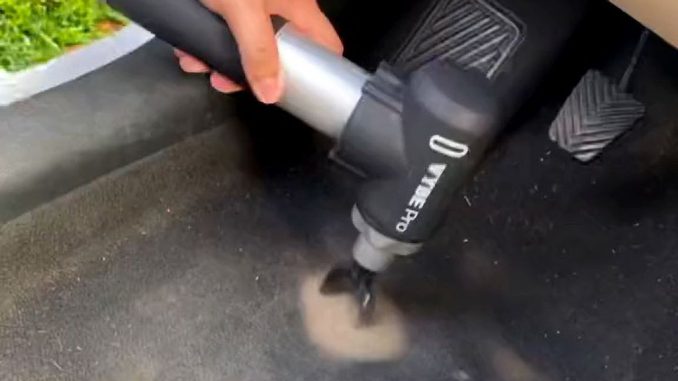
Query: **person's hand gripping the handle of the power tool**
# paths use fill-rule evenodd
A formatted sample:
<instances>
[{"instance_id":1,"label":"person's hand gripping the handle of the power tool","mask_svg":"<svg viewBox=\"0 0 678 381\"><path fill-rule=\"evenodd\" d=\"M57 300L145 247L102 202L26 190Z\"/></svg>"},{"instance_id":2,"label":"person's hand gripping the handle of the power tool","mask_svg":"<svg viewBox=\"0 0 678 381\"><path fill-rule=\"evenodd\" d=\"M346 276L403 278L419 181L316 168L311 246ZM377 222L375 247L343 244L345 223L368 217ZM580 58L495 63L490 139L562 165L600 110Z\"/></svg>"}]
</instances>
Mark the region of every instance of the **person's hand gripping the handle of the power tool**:
<instances>
[{"instance_id":1,"label":"person's hand gripping the handle of the power tool","mask_svg":"<svg viewBox=\"0 0 678 381\"><path fill-rule=\"evenodd\" d=\"M343 45L337 32L322 13L316 0L201 0L228 23L237 43L245 76L254 95L266 104L280 100L284 78L278 58L271 16L281 16L301 34L341 54ZM222 74L212 72L203 62L175 50L179 65L188 73L210 73L218 91L232 93L242 87Z\"/></svg>"}]
</instances>

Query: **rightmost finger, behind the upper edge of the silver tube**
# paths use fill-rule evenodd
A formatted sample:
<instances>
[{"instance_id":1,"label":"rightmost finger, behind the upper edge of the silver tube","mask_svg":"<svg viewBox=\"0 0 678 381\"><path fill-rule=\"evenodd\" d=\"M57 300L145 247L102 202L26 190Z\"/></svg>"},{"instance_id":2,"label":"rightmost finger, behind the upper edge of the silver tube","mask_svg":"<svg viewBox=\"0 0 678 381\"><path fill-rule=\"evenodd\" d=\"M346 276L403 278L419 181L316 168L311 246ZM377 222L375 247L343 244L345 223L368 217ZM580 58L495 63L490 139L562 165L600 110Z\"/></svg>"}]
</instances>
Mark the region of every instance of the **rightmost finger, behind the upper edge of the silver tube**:
<instances>
[{"instance_id":1,"label":"rightmost finger, behind the upper edge of the silver tube","mask_svg":"<svg viewBox=\"0 0 678 381\"><path fill-rule=\"evenodd\" d=\"M339 35L315 0L285 0L276 3L280 6L274 7L272 13L290 21L299 32L318 44L337 54L344 52Z\"/></svg>"}]
</instances>

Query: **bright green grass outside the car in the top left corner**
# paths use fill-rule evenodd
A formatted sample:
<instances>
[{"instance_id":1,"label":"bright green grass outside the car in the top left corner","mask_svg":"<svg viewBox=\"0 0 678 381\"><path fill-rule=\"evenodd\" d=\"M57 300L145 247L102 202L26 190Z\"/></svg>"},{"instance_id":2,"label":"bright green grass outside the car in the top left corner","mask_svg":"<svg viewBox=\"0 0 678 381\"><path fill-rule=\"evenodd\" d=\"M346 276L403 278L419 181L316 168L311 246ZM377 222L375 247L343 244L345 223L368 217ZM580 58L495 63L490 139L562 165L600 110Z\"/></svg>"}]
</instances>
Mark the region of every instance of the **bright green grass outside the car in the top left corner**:
<instances>
[{"instance_id":1,"label":"bright green grass outside the car in the top left corner","mask_svg":"<svg viewBox=\"0 0 678 381\"><path fill-rule=\"evenodd\" d=\"M101 38L106 21L126 23L99 0L0 0L0 69L23 70Z\"/></svg>"}]
</instances>

